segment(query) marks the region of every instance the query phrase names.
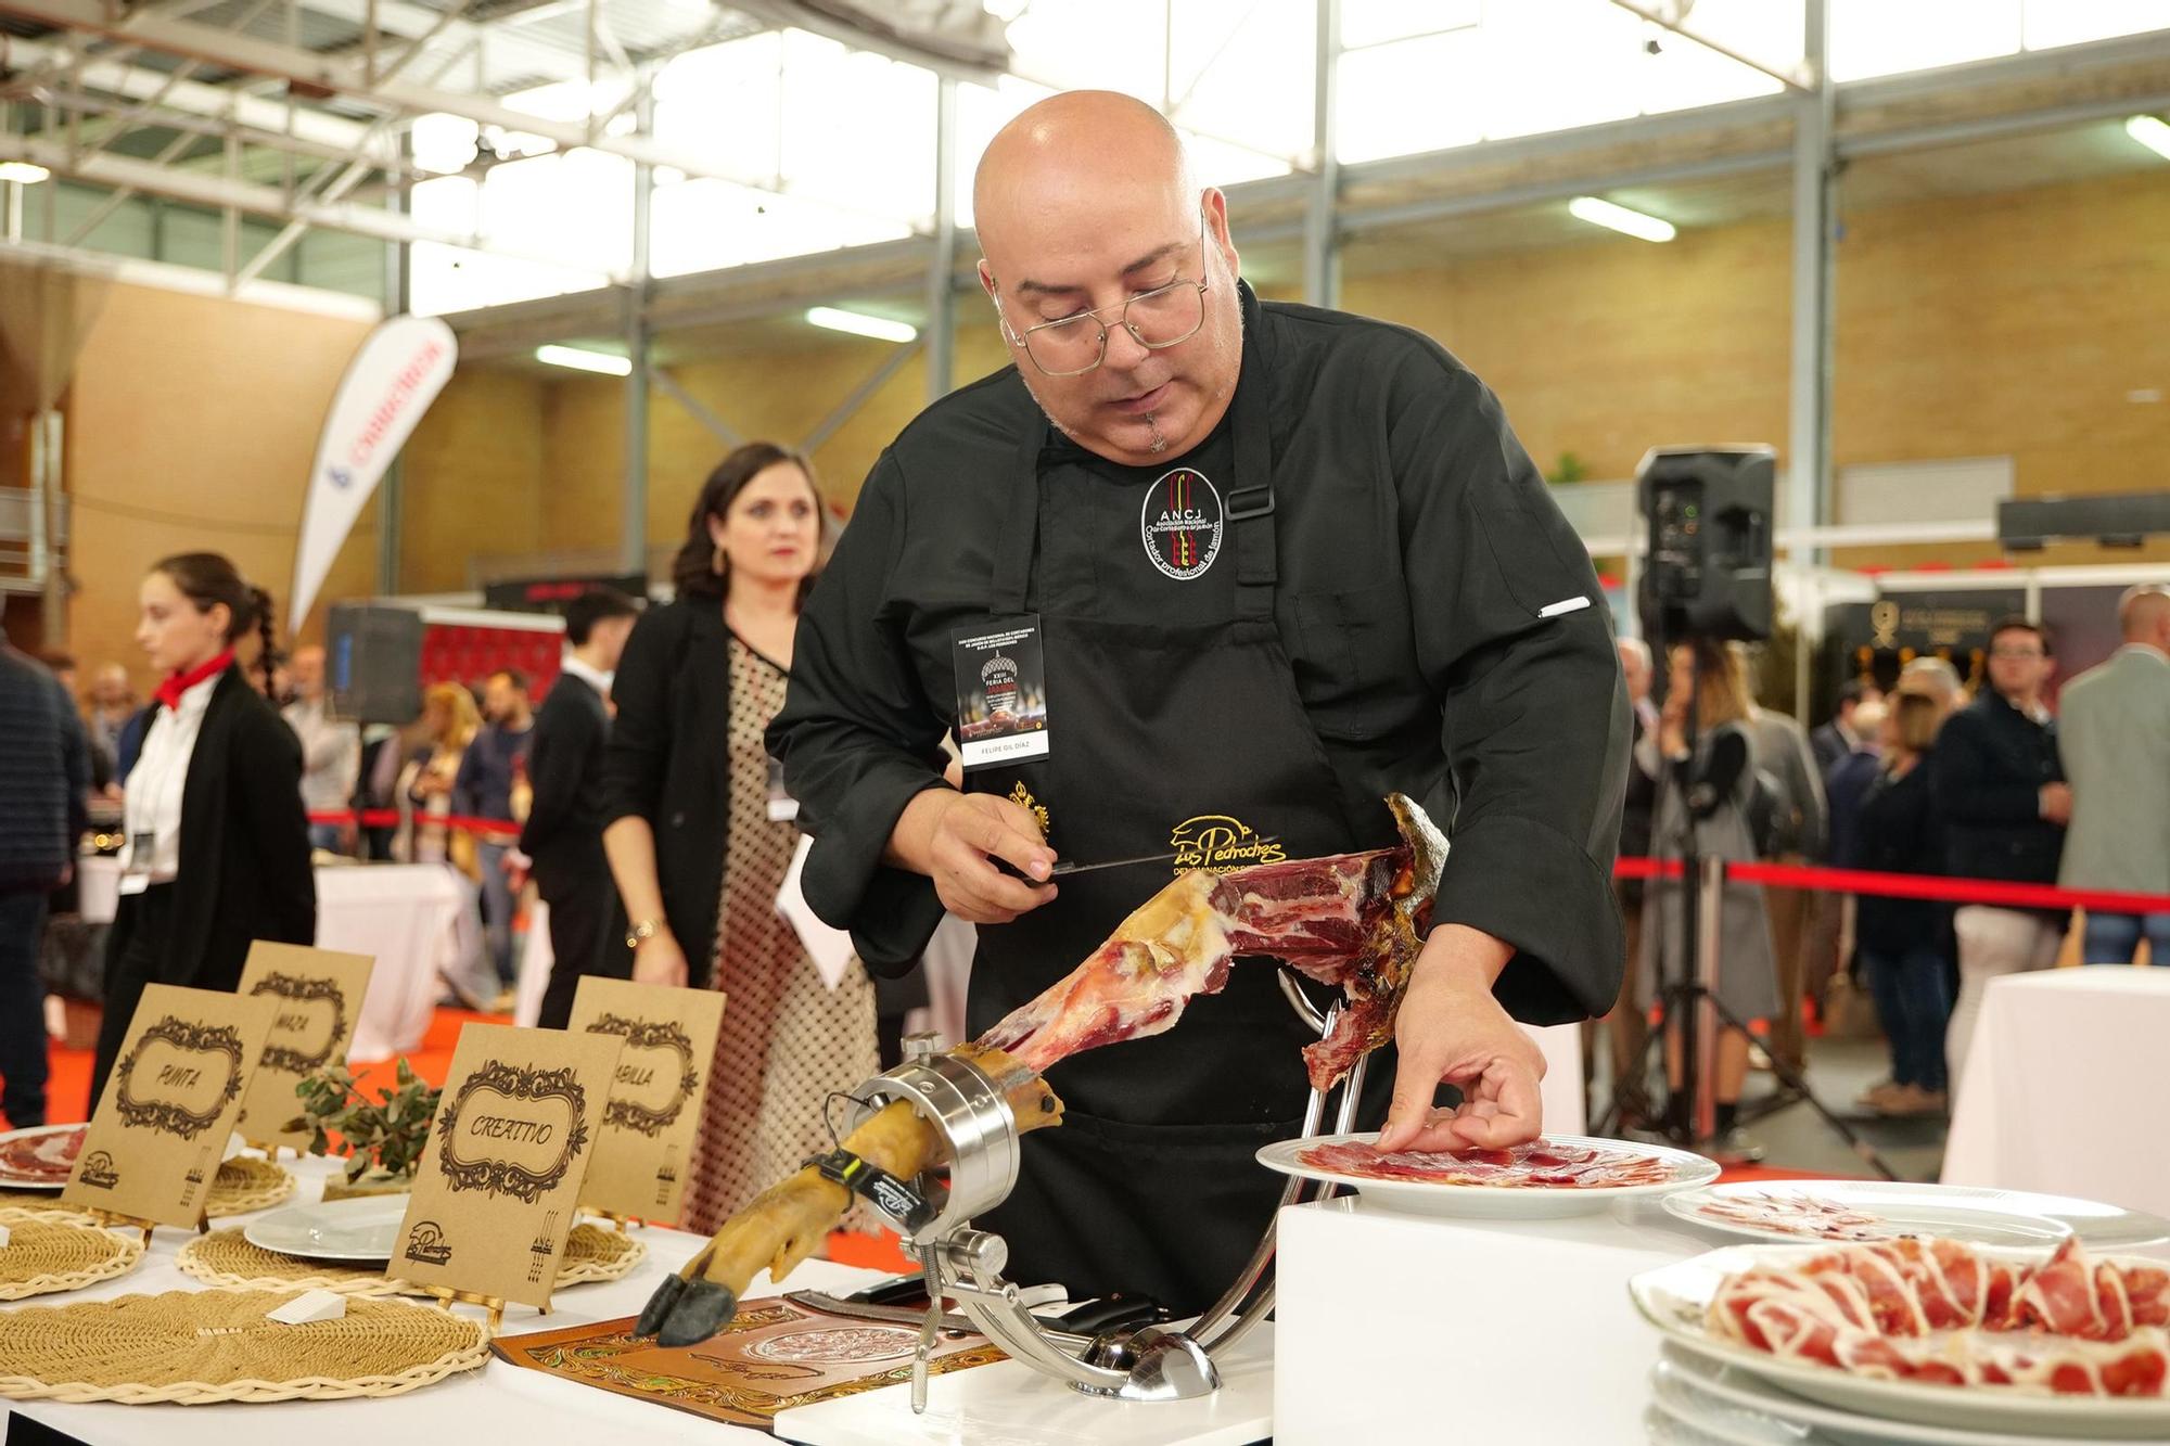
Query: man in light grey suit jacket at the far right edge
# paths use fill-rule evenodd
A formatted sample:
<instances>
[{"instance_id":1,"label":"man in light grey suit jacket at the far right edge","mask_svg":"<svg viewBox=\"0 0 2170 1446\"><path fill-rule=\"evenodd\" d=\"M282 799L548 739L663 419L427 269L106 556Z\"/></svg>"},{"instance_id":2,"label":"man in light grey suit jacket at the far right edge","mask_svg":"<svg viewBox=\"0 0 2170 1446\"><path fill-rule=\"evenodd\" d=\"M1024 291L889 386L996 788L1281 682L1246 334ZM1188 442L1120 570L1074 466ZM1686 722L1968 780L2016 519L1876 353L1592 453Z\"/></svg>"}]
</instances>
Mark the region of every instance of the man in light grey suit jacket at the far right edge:
<instances>
[{"instance_id":1,"label":"man in light grey suit jacket at the far right edge","mask_svg":"<svg viewBox=\"0 0 2170 1446\"><path fill-rule=\"evenodd\" d=\"M2170 588L2118 599L2124 647L2064 688L2057 753L2072 786L2072 825L2057 881L2135 895L2170 892ZM2088 910L2088 964L2170 964L2170 914Z\"/></svg>"}]
</instances>

